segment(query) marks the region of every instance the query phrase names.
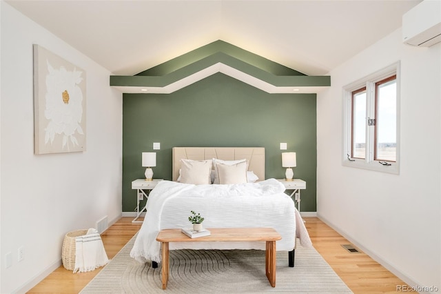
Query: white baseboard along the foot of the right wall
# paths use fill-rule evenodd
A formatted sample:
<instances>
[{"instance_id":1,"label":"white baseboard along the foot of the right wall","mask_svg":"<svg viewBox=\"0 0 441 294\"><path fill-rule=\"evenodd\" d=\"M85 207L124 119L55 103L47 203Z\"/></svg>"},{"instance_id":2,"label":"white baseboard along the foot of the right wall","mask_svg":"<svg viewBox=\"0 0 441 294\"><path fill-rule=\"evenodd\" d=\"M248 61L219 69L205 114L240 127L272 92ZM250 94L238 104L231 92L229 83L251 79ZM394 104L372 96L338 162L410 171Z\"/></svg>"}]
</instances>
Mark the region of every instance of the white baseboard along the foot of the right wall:
<instances>
[{"instance_id":1,"label":"white baseboard along the foot of the right wall","mask_svg":"<svg viewBox=\"0 0 441 294\"><path fill-rule=\"evenodd\" d=\"M317 217L324 222L325 224L327 224L328 226L330 226L331 228L334 229L334 231L336 231L337 233L339 233L340 235L342 235L343 237L345 237L349 242L351 242L353 245L355 245L356 247L360 248L361 251L363 251L364 253L366 253L367 255L369 255L369 257L371 257L373 260L375 260L376 262L378 262L379 264L381 264L382 266L384 266L384 268L386 268L388 271L390 271L391 273L393 273L393 275L396 275L397 277L399 277L403 282L405 282L406 284L408 284L411 287L420 287L421 285L419 283L417 283L416 281L414 281L411 277L404 275L404 273L400 272L395 266L393 266L392 264L389 264L389 262L387 262L386 260L384 260L382 257L376 255L376 253L373 253L372 251L370 251L368 248L366 248L365 246L363 246L362 244L360 244L359 242L357 242L356 239L354 239L353 237L351 237L351 235L349 235L347 232L345 232L344 230L338 228L338 226L335 226L332 222L329 222L328 219L326 219L326 217L322 217L322 215L320 215L320 213L317 214Z\"/></svg>"}]
</instances>

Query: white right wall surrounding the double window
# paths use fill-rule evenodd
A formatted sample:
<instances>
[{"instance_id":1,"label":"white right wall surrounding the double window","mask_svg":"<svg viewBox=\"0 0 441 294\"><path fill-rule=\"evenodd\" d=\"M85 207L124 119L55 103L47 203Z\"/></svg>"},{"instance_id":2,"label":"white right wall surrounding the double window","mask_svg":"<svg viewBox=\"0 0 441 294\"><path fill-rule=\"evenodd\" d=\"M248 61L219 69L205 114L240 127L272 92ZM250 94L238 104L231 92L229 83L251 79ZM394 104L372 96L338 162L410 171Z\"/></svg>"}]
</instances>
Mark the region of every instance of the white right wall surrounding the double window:
<instances>
[{"instance_id":1,"label":"white right wall surrounding the double window","mask_svg":"<svg viewBox=\"0 0 441 294\"><path fill-rule=\"evenodd\" d=\"M400 175L342 166L342 87L401 61ZM318 95L318 216L411 286L441 289L441 43L401 29L335 70Z\"/></svg>"}]
</instances>

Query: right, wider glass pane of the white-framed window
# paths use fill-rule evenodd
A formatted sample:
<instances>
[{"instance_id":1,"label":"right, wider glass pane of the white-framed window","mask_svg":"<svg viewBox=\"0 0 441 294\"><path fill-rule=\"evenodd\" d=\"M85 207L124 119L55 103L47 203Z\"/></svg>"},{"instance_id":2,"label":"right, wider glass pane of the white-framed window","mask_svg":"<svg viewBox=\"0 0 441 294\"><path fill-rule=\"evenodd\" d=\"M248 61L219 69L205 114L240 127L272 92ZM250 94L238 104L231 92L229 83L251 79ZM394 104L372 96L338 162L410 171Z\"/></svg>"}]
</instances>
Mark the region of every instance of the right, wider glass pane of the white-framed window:
<instances>
[{"instance_id":1,"label":"right, wider glass pane of the white-framed window","mask_svg":"<svg viewBox=\"0 0 441 294\"><path fill-rule=\"evenodd\" d=\"M376 160L396 161L396 77L377 83Z\"/></svg>"}]
</instances>

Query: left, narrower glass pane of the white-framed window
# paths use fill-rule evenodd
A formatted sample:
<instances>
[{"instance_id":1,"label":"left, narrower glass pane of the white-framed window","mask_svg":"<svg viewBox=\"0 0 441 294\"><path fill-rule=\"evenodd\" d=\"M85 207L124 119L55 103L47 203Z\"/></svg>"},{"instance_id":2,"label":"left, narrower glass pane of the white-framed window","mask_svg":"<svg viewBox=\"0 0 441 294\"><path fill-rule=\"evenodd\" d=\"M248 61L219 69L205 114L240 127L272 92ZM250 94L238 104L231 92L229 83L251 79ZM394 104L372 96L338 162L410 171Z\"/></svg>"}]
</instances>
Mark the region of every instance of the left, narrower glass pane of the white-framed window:
<instances>
[{"instance_id":1,"label":"left, narrower glass pane of the white-framed window","mask_svg":"<svg viewBox=\"0 0 441 294\"><path fill-rule=\"evenodd\" d=\"M366 158L366 88L352 94L352 154Z\"/></svg>"}]
</instances>

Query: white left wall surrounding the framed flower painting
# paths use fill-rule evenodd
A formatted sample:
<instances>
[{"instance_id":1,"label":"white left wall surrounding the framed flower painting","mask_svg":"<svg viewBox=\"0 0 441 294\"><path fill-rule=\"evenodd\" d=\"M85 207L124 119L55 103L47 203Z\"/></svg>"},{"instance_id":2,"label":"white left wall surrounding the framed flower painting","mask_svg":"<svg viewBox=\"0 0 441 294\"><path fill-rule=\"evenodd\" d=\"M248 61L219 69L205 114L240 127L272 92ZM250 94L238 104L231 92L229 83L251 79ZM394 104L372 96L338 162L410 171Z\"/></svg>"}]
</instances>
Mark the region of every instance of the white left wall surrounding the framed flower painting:
<instances>
[{"instance_id":1,"label":"white left wall surrounding the framed flower painting","mask_svg":"<svg viewBox=\"0 0 441 294\"><path fill-rule=\"evenodd\" d=\"M65 233L121 216L122 95L111 73L1 1L1 293L23 292L61 262ZM61 24L60 24L61 25ZM34 155L32 44L87 75L87 150ZM25 259L17 262L17 251ZM6 253L12 266L4 267Z\"/></svg>"}]
</instances>

